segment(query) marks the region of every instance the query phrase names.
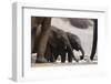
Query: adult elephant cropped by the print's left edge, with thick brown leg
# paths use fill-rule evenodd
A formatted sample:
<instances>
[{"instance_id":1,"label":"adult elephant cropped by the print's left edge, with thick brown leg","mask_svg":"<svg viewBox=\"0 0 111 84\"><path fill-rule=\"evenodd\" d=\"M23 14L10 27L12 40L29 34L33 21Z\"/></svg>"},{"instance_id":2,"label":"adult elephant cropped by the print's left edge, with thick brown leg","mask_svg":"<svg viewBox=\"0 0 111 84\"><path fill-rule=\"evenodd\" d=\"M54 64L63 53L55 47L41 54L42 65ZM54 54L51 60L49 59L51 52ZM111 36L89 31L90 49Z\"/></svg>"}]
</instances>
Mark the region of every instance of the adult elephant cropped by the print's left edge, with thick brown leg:
<instances>
[{"instance_id":1,"label":"adult elephant cropped by the print's left edge, with thick brown leg","mask_svg":"<svg viewBox=\"0 0 111 84\"><path fill-rule=\"evenodd\" d=\"M51 18L48 17L31 17L31 53L33 50L38 52L37 63L44 63L44 52L47 49ZM38 31L39 30L39 31Z\"/></svg>"}]
</instances>

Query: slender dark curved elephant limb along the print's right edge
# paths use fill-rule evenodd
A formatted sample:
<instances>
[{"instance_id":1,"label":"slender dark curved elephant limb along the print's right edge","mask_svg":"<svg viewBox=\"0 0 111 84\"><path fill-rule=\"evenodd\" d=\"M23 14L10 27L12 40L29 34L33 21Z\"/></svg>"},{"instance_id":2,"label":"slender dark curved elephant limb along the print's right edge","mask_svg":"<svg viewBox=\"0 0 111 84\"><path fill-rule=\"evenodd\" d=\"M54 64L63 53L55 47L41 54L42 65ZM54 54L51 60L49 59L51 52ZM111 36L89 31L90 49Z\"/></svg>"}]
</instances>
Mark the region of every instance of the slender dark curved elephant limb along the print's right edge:
<instances>
[{"instance_id":1,"label":"slender dark curved elephant limb along the print's right edge","mask_svg":"<svg viewBox=\"0 0 111 84\"><path fill-rule=\"evenodd\" d=\"M94 29L93 29L93 45L90 60L93 60L95 51L97 51L97 42L98 42L98 20L94 20Z\"/></svg>"}]
</instances>

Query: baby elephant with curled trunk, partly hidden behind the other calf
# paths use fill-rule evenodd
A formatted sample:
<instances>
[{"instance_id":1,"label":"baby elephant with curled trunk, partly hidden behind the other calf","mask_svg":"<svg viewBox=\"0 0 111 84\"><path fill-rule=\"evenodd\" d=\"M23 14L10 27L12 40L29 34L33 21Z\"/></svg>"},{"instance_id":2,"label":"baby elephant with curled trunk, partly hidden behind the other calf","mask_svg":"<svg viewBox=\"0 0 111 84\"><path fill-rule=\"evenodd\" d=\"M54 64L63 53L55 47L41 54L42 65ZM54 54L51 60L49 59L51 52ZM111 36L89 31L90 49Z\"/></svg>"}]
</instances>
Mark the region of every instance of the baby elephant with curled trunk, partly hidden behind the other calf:
<instances>
[{"instance_id":1,"label":"baby elephant with curled trunk, partly hidden behind the other calf","mask_svg":"<svg viewBox=\"0 0 111 84\"><path fill-rule=\"evenodd\" d=\"M80 56L80 60L83 60L84 51L82 49L81 41L80 41L79 36L75 35L75 34L72 34L70 32L65 32L65 33L67 33L67 35L69 38L69 41L70 41L70 44L71 44L72 49L77 50L77 51L81 51L82 55Z\"/></svg>"}]
</instances>

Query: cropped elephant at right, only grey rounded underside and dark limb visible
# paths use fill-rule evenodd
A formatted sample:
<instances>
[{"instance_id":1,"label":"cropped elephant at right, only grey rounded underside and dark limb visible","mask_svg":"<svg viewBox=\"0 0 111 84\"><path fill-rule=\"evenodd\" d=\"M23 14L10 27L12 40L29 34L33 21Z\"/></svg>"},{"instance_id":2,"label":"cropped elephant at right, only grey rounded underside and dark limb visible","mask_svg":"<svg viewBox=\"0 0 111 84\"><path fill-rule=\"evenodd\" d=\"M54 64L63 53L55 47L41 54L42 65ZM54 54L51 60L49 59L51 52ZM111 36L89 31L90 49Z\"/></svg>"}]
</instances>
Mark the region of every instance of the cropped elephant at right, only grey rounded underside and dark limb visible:
<instances>
[{"instance_id":1,"label":"cropped elephant at right, only grey rounded underside and dark limb visible","mask_svg":"<svg viewBox=\"0 0 111 84\"><path fill-rule=\"evenodd\" d=\"M89 27L92 27L92 23L90 21L92 21L94 24L93 25L93 43L92 43L92 51L90 55L90 60L93 61L93 57L97 51L97 44L98 44L98 19L69 18L70 24L79 29L88 29Z\"/></svg>"}]
</instances>

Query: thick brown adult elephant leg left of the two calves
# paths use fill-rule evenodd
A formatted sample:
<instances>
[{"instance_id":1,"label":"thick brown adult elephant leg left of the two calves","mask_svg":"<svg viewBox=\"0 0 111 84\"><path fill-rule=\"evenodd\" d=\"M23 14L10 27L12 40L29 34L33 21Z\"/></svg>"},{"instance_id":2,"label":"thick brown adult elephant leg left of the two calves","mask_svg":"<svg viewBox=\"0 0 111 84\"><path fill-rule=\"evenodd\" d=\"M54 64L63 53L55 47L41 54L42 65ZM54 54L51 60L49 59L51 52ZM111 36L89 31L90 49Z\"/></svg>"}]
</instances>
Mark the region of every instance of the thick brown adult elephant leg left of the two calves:
<instances>
[{"instance_id":1,"label":"thick brown adult elephant leg left of the two calves","mask_svg":"<svg viewBox=\"0 0 111 84\"><path fill-rule=\"evenodd\" d=\"M44 59L44 53L50 33L50 24L51 24L51 18L46 18L42 22L40 40L38 43L38 55L36 60L37 63L47 62L47 60Z\"/></svg>"}]
</instances>

